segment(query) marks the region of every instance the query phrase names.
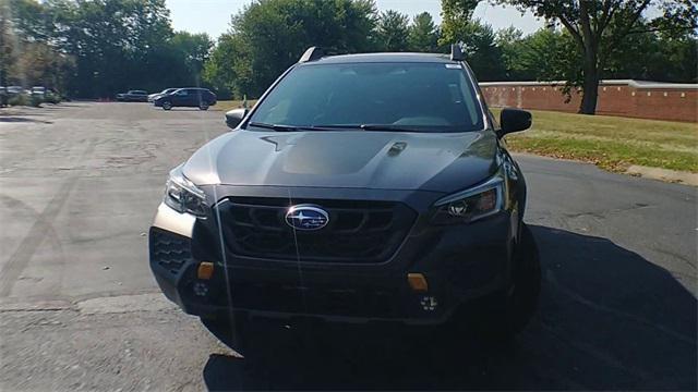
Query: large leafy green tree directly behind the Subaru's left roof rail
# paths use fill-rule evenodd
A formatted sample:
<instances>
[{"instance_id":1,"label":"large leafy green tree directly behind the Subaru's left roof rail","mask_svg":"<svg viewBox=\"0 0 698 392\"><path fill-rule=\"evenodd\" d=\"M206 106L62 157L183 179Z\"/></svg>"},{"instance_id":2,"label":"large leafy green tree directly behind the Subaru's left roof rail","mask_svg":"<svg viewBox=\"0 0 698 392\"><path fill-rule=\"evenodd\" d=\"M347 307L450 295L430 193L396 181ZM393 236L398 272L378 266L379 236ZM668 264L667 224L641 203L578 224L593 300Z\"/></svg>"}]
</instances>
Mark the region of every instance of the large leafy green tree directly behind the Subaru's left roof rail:
<instances>
[{"instance_id":1,"label":"large leafy green tree directly behind the Subaru's left roof rail","mask_svg":"<svg viewBox=\"0 0 698 392\"><path fill-rule=\"evenodd\" d=\"M375 48L371 0L258 0L231 19L205 66L205 81L236 96L258 97L311 46L326 52Z\"/></svg>"}]
</instances>

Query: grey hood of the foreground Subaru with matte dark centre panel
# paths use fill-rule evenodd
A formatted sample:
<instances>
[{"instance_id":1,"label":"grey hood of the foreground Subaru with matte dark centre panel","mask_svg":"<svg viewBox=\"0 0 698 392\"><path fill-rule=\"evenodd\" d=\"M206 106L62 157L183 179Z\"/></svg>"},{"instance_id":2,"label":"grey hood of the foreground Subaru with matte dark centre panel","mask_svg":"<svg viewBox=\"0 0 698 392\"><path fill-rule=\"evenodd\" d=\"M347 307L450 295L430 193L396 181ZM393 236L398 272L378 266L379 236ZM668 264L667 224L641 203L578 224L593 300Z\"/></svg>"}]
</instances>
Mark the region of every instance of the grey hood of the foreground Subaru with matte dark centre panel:
<instances>
[{"instance_id":1,"label":"grey hood of the foreground Subaru with matte dark centre panel","mask_svg":"<svg viewBox=\"0 0 698 392\"><path fill-rule=\"evenodd\" d=\"M496 169L491 131L234 131L200 148L182 168L197 185L313 186L455 192Z\"/></svg>"}]
</instances>

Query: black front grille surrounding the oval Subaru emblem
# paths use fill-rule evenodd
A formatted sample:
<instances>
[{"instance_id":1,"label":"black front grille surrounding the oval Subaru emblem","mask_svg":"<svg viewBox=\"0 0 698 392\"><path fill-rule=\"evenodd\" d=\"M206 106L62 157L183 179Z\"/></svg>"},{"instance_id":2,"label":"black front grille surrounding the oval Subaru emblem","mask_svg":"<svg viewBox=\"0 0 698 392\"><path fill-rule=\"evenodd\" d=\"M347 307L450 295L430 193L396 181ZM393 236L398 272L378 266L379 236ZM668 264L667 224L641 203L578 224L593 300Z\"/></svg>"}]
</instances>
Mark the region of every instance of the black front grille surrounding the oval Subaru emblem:
<instances>
[{"instance_id":1,"label":"black front grille surrounding the oval Subaru emblem","mask_svg":"<svg viewBox=\"0 0 698 392\"><path fill-rule=\"evenodd\" d=\"M232 197L218 205L226 245L234 255L311 262L386 261L409 232L417 213L401 203L293 200L329 215L316 231L293 231L285 221L288 199Z\"/></svg>"}]
</instances>

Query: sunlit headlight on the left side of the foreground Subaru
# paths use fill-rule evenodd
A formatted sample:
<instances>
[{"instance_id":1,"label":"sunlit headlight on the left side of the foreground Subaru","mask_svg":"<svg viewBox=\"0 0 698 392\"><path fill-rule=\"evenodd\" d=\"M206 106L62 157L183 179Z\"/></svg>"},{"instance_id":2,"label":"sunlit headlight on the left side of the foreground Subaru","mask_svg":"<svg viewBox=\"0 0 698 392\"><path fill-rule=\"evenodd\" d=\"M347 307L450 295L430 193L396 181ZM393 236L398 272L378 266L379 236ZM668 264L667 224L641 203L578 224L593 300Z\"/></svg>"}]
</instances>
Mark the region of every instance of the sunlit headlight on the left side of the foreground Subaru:
<instances>
[{"instance_id":1,"label":"sunlit headlight on the left side of the foreground Subaru","mask_svg":"<svg viewBox=\"0 0 698 392\"><path fill-rule=\"evenodd\" d=\"M179 166L170 172L165 186L166 205L179 212L189 212L198 217L206 216L206 195L182 174Z\"/></svg>"}]
</instances>

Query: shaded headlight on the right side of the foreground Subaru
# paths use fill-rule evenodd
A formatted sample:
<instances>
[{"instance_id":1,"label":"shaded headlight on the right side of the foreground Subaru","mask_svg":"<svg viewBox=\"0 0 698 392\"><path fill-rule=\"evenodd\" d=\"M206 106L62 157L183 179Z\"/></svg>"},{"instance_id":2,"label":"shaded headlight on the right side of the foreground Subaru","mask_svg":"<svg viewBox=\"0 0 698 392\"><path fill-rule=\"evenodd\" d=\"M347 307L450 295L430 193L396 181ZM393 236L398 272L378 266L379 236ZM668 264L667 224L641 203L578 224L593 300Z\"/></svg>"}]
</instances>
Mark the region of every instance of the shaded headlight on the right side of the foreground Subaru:
<instances>
[{"instance_id":1,"label":"shaded headlight on the right side of the foreground Subaru","mask_svg":"<svg viewBox=\"0 0 698 392\"><path fill-rule=\"evenodd\" d=\"M435 206L438 208L434 224L468 223L500 212L505 205L506 177L502 170L485 183L446 196Z\"/></svg>"}]
</instances>

